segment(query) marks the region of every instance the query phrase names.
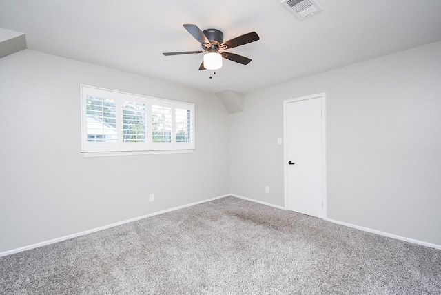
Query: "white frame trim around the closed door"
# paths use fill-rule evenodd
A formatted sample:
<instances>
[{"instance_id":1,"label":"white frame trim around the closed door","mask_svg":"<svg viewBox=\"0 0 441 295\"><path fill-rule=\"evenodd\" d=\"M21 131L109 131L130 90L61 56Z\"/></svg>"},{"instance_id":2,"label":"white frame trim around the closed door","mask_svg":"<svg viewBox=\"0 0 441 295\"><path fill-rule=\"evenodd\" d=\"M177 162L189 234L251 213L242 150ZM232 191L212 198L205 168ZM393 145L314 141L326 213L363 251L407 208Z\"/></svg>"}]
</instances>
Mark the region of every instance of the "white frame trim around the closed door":
<instances>
[{"instance_id":1,"label":"white frame trim around the closed door","mask_svg":"<svg viewBox=\"0 0 441 295\"><path fill-rule=\"evenodd\" d=\"M284 164L284 186L285 186L285 210L288 209L288 182L287 182L287 105L296 101L305 101L308 99L322 99L322 201L323 214L322 219L327 219L327 186L326 186L326 92L297 97L295 99L286 99L283 101L283 164Z\"/></svg>"}]
</instances>

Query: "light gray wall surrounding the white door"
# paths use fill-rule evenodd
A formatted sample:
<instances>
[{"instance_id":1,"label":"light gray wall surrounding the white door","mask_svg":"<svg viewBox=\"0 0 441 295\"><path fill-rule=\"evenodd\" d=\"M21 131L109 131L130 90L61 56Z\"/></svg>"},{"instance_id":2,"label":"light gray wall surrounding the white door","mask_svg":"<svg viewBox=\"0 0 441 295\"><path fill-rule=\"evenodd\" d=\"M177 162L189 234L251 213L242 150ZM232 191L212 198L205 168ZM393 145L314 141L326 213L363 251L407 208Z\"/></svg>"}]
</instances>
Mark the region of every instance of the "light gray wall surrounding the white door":
<instances>
[{"instance_id":1,"label":"light gray wall surrounding the white door","mask_svg":"<svg viewBox=\"0 0 441 295\"><path fill-rule=\"evenodd\" d=\"M437 42L246 94L232 194L284 205L283 100L326 92L328 218L441 245L440 69Z\"/></svg>"}]
</instances>

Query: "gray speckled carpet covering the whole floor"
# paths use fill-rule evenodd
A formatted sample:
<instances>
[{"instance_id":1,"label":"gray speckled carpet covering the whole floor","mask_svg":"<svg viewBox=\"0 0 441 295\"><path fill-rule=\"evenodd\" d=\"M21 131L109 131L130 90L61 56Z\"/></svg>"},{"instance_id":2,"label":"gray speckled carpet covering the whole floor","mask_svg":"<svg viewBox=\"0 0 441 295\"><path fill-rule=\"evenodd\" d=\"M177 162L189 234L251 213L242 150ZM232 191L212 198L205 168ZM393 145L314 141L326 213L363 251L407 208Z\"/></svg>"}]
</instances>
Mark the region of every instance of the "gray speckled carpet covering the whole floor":
<instances>
[{"instance_id":1,"label":"gray speckled carpet covering the whole floor","mask_svg":"<svg viewBox=\"0 0 441 295\"><path fill-rule=\"evenodd\" d=\"M441 294L441 250L226 197L0 257L0 294Z\"/></svg>"}]
</instances>

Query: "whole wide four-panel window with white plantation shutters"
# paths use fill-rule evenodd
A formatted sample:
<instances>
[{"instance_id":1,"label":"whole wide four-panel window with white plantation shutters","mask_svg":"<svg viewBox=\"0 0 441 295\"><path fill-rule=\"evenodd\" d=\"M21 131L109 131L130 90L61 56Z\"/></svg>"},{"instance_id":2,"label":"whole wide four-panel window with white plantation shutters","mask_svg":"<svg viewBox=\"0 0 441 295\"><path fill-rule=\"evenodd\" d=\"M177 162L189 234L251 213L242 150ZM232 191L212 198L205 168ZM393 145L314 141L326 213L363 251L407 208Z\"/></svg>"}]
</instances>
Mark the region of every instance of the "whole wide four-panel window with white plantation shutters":
<instances>
[{"instance_id":1,"label":"whole wide four-panel window with white plantation shutters","mask_svg":"<svg viewBox=\"0 0 441 295\"><path fill-rule=\"evenodd\" d=\"M85 156L194 150L192 103L81 85L81 123Z\"/></svg>"}]
</instances>

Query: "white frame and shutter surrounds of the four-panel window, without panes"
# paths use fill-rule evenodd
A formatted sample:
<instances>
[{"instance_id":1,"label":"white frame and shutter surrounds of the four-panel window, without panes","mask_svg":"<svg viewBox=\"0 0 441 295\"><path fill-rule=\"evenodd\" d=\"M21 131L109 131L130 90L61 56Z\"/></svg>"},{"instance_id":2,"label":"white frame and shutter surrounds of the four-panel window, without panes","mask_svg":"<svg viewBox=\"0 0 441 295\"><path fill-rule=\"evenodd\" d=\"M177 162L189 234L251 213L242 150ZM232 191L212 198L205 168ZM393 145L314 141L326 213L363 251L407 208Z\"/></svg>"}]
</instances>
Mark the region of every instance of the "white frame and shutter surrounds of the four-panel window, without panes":
<instances>
[{"instance_id":1,"label":"white frame and shutter surrounds of the four-panel window, without panes","mask_svg":"<svg viewBox=\"0 0 441 295\"><path fill-rule=\"evenodd\" d=\"M112 99L116 102L116 143L88 141L88 96L101 99ZM194 103L158 99L156 97L131 94L116 90L80 85L81 98L81 153L83 156L123 156L130 154L178 154L193 152L196 148ZM124 142L123 140L123 103L125 101L143 103L147 106L147 141ZM152 105L172 109L172 139L170 142L153 142ZM176 109L190 111L189 141L176 140Z\"/></svg>"}]
</instances>

